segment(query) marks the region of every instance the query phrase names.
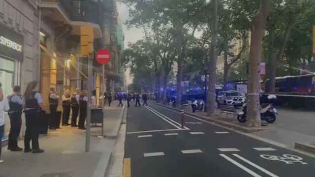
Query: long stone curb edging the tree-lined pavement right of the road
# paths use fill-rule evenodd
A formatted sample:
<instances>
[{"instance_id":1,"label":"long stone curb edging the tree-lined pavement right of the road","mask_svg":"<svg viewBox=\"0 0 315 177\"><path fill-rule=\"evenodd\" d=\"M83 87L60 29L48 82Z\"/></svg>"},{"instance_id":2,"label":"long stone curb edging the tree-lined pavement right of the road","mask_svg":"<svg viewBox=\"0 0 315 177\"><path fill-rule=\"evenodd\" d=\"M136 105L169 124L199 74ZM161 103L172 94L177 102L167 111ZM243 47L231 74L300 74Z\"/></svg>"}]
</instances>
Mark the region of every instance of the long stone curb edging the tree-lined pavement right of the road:
<instances>
[{"instance_id":1,"label":"long stone curb edging the tree-lined pavement right of the road","mask_svg":"<svg viewBox=\"0 0 315 177\"><path fill-rule=\"evenodd\" d=\"M156 105L159 105L159 106L168 108L168 109L170 109L170 110L177 111L177 112L181 112L181 110L179 110L179 109L172 108L172 107L169 107L169 106L166 106L166 105L162 105L162 104L160 104L160 103L156 103L156 102L153 102L153 101L151 101L151 102L154 103L154 104L156 104ZM254 132L259 132L259 131L263 131L263 130L270 130L270 129L273 129L272 127L268 127L268 128L264 128L264 127L248 128L248 127L243 127L243 126L240 126L240 125L235 125L235 124L233 124L233 123L224 122L224 121L222 121L222 120L217 120L217 119L215 119L215 118L208 118L208 117L201 116L201 115L197 115L197 114L193 114L193 113L185 112L185 114L186 114L186 115L189 115L189 116L192 116L192 117L200 118L200 119L203 119L203 120L212 121L212 122L214 122L214 123L216 123L216 124L218 124L218 125L221 125L221 126L224 126L224 127L227 127L227 128L232 128L232 129L235 129L235 130L244 132L244 133L254 133Z\"/></svg>"}]
</instances>

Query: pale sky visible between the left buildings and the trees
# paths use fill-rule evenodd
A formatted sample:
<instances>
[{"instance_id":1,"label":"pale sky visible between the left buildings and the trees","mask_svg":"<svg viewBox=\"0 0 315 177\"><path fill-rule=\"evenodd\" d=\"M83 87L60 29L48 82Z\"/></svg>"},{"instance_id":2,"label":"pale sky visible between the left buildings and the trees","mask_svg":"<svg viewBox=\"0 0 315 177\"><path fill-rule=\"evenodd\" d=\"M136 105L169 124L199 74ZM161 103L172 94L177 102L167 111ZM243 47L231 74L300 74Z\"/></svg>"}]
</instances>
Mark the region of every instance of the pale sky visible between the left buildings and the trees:
<instances>
[{"instance_id":1,"label":"pale sky visible between the left buildings and the trees","mask_svg":"<svg viewBox=\"0 0 315 177\"><path fill-rule=\"evenodd\" d=\"M128 9L125 4L120 3L120 2L117 2L117 7L118 7L119 17L121 18L123 22L123 30L125 34L125 48L127 48L129 42L136 42L137 40L142 39L144 33L142 29L137 29L137 28L127 29L125 22L129 18ZM126 74L126 83L128 85L132 83L132 78L130 77L130 70L127 69L125 74Z\"/></svg>"}]
</instances>

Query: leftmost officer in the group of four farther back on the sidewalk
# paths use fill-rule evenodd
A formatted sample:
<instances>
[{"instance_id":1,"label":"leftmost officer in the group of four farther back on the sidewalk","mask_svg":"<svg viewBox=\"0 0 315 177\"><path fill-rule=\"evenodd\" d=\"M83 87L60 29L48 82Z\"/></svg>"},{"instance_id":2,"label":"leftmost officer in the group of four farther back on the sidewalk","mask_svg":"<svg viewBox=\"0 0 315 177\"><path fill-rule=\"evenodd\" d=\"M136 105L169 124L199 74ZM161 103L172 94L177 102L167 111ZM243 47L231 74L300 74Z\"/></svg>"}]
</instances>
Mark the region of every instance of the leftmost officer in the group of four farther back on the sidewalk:
<instances>
[{"instance_id":1,"label":"leftmost officer in the group of four farther back on the sidewalk","mask_svg":"<svg viewBox=\"0 0 315 177\"><path fill-rule=\"evenodd\" d=\"M50 88L48 100L49 100L49 109L50 109L49 129L56 130L58 127L57 108L58 108L58 103L59 103L59 95L57 94L55 88Z\"/></svg>"}]
</instances>

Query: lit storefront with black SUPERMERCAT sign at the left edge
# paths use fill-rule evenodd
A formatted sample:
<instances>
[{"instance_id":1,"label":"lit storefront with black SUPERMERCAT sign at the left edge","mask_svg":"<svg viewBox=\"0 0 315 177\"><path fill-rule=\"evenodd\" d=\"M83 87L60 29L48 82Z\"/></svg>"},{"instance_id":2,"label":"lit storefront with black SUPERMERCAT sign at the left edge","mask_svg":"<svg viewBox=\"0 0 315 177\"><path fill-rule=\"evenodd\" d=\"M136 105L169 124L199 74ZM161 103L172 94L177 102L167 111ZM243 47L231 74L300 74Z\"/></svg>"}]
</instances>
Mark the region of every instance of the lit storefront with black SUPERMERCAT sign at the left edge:
<instances>
[{"instance_id":1,"label":"lit storefront with black SUPERMERCAT sign at the left edge","mask_svg":"<svg viewBox=\"0 0 315 177\"><path fill-rule=\"evenodd\" d=\"M0 83L2 84L3 95L7 96L12 93L15 85L20 85L21 63L23 61L23 36L0 25ZM10 121L5 113L5 140L10 128Z\"/></svg>"}]
</instances>

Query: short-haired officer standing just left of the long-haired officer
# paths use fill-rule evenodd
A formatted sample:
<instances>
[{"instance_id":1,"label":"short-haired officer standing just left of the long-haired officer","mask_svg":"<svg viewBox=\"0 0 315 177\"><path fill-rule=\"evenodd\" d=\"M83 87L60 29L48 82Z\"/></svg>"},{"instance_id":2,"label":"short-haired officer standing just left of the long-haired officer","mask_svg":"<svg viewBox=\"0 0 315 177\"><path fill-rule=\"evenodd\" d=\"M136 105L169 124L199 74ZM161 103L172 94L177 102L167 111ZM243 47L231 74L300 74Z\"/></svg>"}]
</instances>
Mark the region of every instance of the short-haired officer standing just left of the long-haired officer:
<instances>
[{"instance_id":1,"label":"short-haired officer standing just left of the long-haired officer","mask_svg":"<svg viewBox=\"0 0 315 177\"><path fill-rule=\"evenodd\" d=\"M10 133L8 140L8 150L11 151L21 151L23 148L18 146L18 137L21 131L22 125L22 96L21 96L21 87L14 86L13 94L7 97L9 102L9 118L10 118Z\"/></svg>"}]
</instances>

